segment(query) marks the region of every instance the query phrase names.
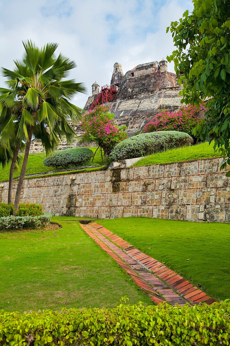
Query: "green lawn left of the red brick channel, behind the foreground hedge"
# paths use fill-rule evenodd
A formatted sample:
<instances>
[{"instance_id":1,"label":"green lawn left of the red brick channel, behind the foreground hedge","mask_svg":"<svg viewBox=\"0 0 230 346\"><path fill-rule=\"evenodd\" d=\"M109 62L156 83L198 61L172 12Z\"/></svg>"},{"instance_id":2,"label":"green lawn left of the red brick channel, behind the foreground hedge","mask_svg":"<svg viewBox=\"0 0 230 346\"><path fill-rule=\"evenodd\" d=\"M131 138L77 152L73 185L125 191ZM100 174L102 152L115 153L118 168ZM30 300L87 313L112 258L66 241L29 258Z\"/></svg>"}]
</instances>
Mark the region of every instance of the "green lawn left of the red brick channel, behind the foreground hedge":
<instances>
[{"instance_id":1,"label":"green lawn left of the red brick channel, behind the foreground hedge","mask_svg":"<svg viewBox=\"0 0 230 346\"><path fill-rule=\"evenodd\" d=\"M63 228L0 234L0 309L112 307L125 295L151 304L78 222L54 220Z\"/></svg>"}]
</instances>

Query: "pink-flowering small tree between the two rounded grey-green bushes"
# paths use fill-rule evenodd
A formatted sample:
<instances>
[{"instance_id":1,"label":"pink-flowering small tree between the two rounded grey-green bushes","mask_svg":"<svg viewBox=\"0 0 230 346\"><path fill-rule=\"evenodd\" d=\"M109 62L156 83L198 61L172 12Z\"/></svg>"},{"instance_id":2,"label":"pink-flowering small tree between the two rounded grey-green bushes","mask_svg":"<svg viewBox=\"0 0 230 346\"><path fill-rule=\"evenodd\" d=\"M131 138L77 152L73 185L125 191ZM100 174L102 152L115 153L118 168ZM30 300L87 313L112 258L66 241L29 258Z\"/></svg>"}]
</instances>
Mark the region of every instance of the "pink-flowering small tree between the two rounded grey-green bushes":
<instances>
[{"instance_id":1,"label":"pink-flowering small tree between the two rounded grey-green bushes","mask_svg":"<svg viewBox=\"0 0 230 346\"><path fill-rule=\"evenodd\" d=\"M114 146L127 138L125 128L114 125L114 114L109 113L109 108L102 105L89 110L82 121L82 141L96 142L98 148L104 150L105 155L111 153Z\"/></svg>"}]
</instances>

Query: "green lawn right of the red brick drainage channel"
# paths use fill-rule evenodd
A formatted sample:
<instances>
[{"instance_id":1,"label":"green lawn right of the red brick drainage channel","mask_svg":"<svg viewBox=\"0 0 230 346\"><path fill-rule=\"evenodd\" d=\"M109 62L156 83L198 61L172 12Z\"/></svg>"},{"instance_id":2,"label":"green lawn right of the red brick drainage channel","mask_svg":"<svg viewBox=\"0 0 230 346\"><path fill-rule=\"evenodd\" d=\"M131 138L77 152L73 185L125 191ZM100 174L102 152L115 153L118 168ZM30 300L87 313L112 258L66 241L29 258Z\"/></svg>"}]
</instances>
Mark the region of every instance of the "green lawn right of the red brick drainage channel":
<instances>
[{"instance_id":1,"label":"green lawn right of the red brick drainage channel","mask_svg":"<svg viewBox=\"0 0 230 346\"><path fill-rule=\"evenodd\" d=\"M230 224L148 218L98 222L211 297L230 298Z\"/></svg>"}]
</instances>

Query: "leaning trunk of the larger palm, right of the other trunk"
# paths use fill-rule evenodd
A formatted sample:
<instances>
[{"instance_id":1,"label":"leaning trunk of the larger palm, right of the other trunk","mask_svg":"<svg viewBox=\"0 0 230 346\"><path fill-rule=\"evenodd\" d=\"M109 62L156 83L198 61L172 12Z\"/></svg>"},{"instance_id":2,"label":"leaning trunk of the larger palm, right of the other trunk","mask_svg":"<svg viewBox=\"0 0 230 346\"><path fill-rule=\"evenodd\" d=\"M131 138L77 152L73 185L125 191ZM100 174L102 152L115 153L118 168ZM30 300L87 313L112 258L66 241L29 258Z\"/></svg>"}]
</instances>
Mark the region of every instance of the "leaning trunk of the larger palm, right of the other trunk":
<instances>
[{"instance_id":1,"label":"leaning trunk of the larger palm, right of the other trunk","mask_svg":"<svg viewBox=\"0 0 230 346\"><path fill-rule=\"evenodd\" d=\"M36 113L35 113L35 115L36 115ZM26 174L26 167L27 167L28 156L29 156L29 151L30 151L30 143L31 143L31 138L32 138L32 134L33 134L33 128L34 128L34 125L30 126L29 130L28 130L28 141L26 142L24 159L23 159L23 163L22 163L22 167L21 167L21 173L20 173L20 177L19 177L19 181L18 181L16 195L15 195L14 215L16 214L16 212L18 210L18 206L19 206L19 202L20 202L22 185L23 185L23 181L25 178L25 174Z\"/></svg>"}]
</instances>

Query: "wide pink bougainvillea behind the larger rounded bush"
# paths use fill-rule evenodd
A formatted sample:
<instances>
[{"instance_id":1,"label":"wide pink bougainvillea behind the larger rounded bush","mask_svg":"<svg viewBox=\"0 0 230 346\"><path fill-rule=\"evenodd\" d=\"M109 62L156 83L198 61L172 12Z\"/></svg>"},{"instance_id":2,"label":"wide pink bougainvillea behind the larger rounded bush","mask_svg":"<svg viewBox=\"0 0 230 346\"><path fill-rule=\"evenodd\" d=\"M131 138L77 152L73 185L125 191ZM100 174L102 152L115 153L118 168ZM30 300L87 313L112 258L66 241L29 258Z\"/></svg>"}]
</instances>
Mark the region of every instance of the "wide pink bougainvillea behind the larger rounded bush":
<instances>
[{"instance_id":1,"label":"wide pink bougainvillea behind the larger rounded bush","mask_svg":"<svg viewBox=\"0 0 230 346\"><path fill-rule=\"evenodd\" d=\"M176 112L160 109L152 119L147 119L148 123L144 126L143 133L173 130L186 132L191 136L200 120L197 116L198 111L206 109L202 104L200 106L198 109L189 104Z\"/></svg>"}]
</instances>

